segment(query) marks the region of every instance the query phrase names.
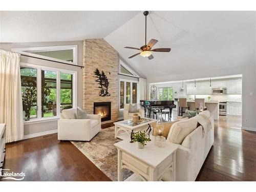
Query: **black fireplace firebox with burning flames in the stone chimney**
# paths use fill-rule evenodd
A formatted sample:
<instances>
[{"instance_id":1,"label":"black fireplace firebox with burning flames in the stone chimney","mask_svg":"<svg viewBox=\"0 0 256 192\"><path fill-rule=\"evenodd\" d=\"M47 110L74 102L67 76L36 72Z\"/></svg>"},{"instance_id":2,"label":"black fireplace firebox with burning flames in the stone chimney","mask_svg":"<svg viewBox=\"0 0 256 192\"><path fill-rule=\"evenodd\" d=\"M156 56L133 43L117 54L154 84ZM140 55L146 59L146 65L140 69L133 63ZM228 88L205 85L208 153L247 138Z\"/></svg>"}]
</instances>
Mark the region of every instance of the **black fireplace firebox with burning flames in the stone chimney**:
<instances>
[{"instance_id":1,"label":"black fireplace firebox with burning flames in the stone chimney","mask_svg":"<svg viewBox=\"0 0 256 192\"><path fill-rule=\"evenodd\" d=\"M94 102L93 114L99 114L101 121L111 120L111 102Z\"/></svg>"}]
</instances>

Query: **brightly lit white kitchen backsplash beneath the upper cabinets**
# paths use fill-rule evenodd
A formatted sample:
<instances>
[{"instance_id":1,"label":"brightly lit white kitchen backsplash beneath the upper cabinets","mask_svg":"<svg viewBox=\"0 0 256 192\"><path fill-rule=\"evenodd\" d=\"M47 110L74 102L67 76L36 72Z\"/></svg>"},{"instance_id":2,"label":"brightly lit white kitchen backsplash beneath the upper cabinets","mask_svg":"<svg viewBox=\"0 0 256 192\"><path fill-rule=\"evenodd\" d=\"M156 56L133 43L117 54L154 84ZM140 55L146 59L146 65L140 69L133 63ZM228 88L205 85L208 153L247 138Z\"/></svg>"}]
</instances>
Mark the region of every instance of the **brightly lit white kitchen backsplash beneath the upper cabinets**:
<instances>
[{"instance_id":1,"label":"brightly lit white kitchen backsplash beneath the upper cabinets","mask_svg":"<svg viewBox=\"0 0 256 192\"><path fill-rule=\"evenodd\" d=\"M242 95L196 95L196 98L208 100L208 96L212 101L242 101ZM187 95L187 99L195 99L195 95Z\"/></svg>"}]
</instances>

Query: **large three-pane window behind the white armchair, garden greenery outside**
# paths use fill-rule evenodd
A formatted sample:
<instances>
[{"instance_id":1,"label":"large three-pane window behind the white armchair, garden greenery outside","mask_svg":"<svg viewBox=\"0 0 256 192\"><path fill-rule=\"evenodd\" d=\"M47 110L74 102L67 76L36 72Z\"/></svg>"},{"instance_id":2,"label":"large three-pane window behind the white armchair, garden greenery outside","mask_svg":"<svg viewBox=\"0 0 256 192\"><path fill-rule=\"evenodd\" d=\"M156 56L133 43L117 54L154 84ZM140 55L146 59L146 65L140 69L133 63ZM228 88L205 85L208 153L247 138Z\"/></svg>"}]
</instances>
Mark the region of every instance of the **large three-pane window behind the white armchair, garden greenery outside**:
<instances>
[{"instance_id":1,"label":"large three-pane window behind the white armchair, garden greenery outside","mask_svg":"<svg viewBox=\"0 0 256 192\"><path fill-rule=\"evenodd\" d=\"M77 72L20 63L24 120L58 118L76 107Z\"/></svg>"}]
</instances>

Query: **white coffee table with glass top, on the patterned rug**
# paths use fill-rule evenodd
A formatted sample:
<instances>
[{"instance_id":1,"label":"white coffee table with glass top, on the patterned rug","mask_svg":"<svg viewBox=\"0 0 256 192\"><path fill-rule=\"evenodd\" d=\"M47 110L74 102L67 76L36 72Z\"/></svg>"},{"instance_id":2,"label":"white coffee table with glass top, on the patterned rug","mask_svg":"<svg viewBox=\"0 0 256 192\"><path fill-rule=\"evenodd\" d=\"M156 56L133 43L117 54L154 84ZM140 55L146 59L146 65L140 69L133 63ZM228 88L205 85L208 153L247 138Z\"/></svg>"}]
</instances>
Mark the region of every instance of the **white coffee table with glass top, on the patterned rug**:
<instances>
[{"instance_id":1,"label":"white coffee table with glass top, on the patterned rug","mask_svg":"<svg viewBox=\"0 0 256 192\"><path fill-rule=\"evenodd\" d=\"M137 132L142 131L148 128L148 124L151 124L153 122L156 122L156 119L150 119L150 118L143 118L145 119L145 122L139 122L139 123L133 123L132 119L129 120L123 120L115 122L115 138L119 138L122 140L130 139L131 138L131 132ZM119 131L124 131L124 133L119 133ZM152 127L153 130L153 127Z\"/></svg>"}]
</instances>

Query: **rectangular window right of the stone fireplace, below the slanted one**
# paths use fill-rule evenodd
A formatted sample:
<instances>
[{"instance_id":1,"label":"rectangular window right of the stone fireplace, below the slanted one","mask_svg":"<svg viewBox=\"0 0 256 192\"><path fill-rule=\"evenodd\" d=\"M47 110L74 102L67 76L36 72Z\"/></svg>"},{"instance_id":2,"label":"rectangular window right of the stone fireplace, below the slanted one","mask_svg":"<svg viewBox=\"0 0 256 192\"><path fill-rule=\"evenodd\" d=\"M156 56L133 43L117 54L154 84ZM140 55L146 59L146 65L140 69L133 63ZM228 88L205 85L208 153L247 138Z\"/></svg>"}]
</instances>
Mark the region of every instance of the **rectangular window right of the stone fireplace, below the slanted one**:
<instances>
[{"instance_id":1,"label":"rectangular window right of the stone fireplace, below the slanted one","mask_svg":"<svg viewBox=\"0 0 256 192\"><path fill-rule=\"evenodd\" d=\"M138 102L138 81L120 79L120 92L119 92L120 110L124 108L124 104L137 103L137 102Z\"/></svg>"}]
</instances>

